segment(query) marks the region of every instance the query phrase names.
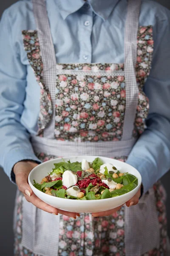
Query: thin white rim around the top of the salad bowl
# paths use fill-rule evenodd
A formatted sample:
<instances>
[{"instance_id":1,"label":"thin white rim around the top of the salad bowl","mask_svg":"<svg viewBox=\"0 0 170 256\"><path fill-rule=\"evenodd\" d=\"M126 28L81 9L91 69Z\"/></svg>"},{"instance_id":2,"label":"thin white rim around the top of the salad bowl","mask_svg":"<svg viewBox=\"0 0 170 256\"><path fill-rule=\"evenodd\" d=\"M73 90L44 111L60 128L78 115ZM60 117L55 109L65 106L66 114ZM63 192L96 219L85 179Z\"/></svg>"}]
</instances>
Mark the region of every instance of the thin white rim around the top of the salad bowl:
<instances>
[{"instance_id":1,"label":"thin white rim around the top of the salad bowl","mask_svg":"<svg viewBox=\"0 0 170 256\"><path fill-rule=\"evenodd\" d=\"M37 189L36 187L34 187L34 185L31 183L31 179L30 179L30 176L31 176L31 174L33 173L33 172L35 172L35 170L36 169L38 169L40 166L42 166L42 165L45 165L46 163L49 163L49 162L53 162L54 160L59 160L59 159L68 159L68 158L76 158L76 157L94 157L94 158L96 158L96 157L100 157L100 158L105 158L105 159L110 159L110 160L115 160L116 162L118 162L118 163L123 163L123 164L125 164L125 165L128 165L128 166L130 166L130 167L132 167L133 169L135 169L135 171L136 172L138 172L138 175L139 175L139 178L138 178L138 185L136 186L136 188L135 189L133 189L133 190L131 190L130 192L132 192L132 191L134 191L134 190L136 190L136 191L138 191L139 190L139 187L141 186L141 184L142 184L142 176L141 176L141 174L140 174L140 172L135 168L135 167L133 167L133 166L131 166L130 164L128 164L128 163L125 163L125 162L122 162L122 161L120 161L120 160L117 160L117 159L114 159L114 158L110 158L110 157L101 157L101 156L91 156L91 155L89 155L89 156L87 156L87 155L77 155L77 156L68 156L68 157L56 157L56 158L53 158L53 159L51 159L51 160L48 160L48 161L45 161L45 162L43 162L43 163L40 163L39 165L37 165L36 167L34 167L32 170L31 170L31 172L29 173L29 175L28 175L28 183L29 183L29 185L31 186L31 189L33 190L33 189L35 189L35 190L37 190L37 192L41 192L41 193L43 193L43 195L45 195L45 197L47 198L49 198L49 195L47 195L47 194L45 194L44 192L42 192L42 191L40 191L39 189ZM34 191L33 191L34 192ZM100 202L101 200L103 201L103 200L105 200L105 202L106 201L112 201L112 200L114 200L115 198L119 198L119 197L121 197L121 198L125 198L126 197L126 195L127 194L129 194L130 192L127 192L126 194L124 194L124 195L119 195L119 196L117 196L117 197L112 197L112 198L105 198L105 199L100 199L100 200L72 200L72 201L74 201L74 202L76 202L75 204L88 204L89 202L95 202L94 204L97 204L97 202ZM137 193L137 192L136 192ZM52 199L52 200L57 200L57 201L63 201L63 200L65 200L65 199L67 199L67 198L59 198L59 197L52 197L52 198L54 198L54 199ZM81 202L81 203L80 203Z\"/></svg>"}]
</instances>

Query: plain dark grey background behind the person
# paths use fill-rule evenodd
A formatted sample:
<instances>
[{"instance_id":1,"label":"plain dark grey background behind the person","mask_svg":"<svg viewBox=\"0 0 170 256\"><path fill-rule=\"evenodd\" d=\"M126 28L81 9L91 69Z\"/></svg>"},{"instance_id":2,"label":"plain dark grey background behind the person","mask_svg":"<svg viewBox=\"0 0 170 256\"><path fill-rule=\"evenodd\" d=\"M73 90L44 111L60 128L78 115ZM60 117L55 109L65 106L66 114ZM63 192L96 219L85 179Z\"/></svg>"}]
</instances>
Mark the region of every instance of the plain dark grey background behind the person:
<instances>
[{"instance_id":1,"label":"plain dark grey background behind the person","mask_svg":"<svg viewBox=\"0 0 170 256\"><path fill-rule=\"evenodd\" d=\"M17 2L16 0L0 1L0 16L4 9L8 8L12 3ZM169 0L157 0L157 2L166 6L170 9ZM0 49L3 50L3 49ZM2 169L0 169L0 255L12 256L13 255L13 231L12 231L12 218L14 208L14 198L16 192L16 186L13 185L8 177L5 175ZM162 178L162 182L169 195L167 198L167 216L168 216L168 233L170 236L170 186L168 181L170 180L170 172L168 172Z\"/></svg>"}]
</instances>

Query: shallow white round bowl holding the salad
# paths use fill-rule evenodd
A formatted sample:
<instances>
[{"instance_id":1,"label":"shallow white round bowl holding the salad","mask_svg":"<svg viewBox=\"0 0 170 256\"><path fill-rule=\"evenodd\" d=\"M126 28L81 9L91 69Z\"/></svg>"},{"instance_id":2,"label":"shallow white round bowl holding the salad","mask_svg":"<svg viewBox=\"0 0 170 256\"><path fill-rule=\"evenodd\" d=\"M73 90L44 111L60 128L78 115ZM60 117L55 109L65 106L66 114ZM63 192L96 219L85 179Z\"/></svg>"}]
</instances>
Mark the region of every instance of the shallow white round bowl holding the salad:
<instances>
[{"instance_id":1,"label":"shallow white round bowl holding the salad","mask_svg":"<svg viewBox=\"0 0 170 256\"><path fill-rule=\"evenodd\" d=\"M115 166L119 166L121 168L121 172L128 172L138 178L138 186L135 189L133 189L132 191L128 192L125 195L120 195L114 198L81 201L81 200L71 200L66 198L57 198L51 195L47 195L33 186L33 183L34 183L33 180L40 183L42 178L47 176L48 172L52 171L52 168L54 168L54 163L59 163L62 161L62 159L64 159L65 161L70 160L72 163L76 161L81 162L82 159L86 159L88 160L88 162L93 162L95 158L96 156L75 156L75 157L56 158L56 159L46 161L36 166L30 172L28 176L28 183L31 186L31 189L33 190L35 195L37 195L37 197L40 198L42 201L44 201L45 203L57 209L62 209L68 212L77 212L77 213L104 212L125 204L139 190L142 183L142 177L140 173L133 166L130 166L129 164L124 163L122 161L118 161L118 160L107 158L107 157L100 157L100 158L103 160L104 163L112 163Z\"/></svg>"}]
</instances>

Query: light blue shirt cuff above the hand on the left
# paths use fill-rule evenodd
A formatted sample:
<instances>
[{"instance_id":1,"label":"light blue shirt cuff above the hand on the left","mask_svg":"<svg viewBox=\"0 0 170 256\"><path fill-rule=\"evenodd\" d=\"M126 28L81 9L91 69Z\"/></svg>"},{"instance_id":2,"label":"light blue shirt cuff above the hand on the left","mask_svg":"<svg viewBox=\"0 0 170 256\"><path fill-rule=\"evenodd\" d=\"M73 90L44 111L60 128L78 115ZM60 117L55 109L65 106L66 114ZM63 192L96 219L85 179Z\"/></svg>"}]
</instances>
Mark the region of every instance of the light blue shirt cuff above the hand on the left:
<instances>
[{"instance_id":1,"label":"light blue shirt cuff above the hand on the left","mask_svg":"<svg viewBox=\"0 0 170 256\"><path fill-rule=\"evenodd\" d=\"M15 183L15 175L12 171L14 165L20 161L23 160L33 160L37 163L42 163L34 154L34 152L28 152L27 150L24 150L23 148L14 148L12 149L5 158L4 161L4 171L8 175L9 179Z\"/></svg>"}]
</instances>

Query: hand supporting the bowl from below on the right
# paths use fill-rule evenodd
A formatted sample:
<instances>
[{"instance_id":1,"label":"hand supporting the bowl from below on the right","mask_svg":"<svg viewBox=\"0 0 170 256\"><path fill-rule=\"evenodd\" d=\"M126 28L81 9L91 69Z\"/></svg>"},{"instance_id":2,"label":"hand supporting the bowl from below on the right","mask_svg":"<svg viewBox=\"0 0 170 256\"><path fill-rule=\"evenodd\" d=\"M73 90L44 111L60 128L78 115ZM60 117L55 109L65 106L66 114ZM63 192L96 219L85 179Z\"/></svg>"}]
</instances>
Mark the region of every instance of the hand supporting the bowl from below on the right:
<instances>
[{"instance_id":1,"label":"hand supporting the bowl from below on the right","mask_svg":"<svg viewBox=\"0 0 170 256\"><path fill-rule=\"evenodd\" d=\"M138 190L138 192L136 193L136 195L133 196L133 198L131 198L129 201L126 202L126 206L130 207L130 206L138 204L140 196L141 196L141 189ZM92 213L92 216L93 217L109 216L109 215L112 215L114 212L119 211L119 209L121 209L121 207L122 206L119 206L117 208L114 208L112 210L105 211L105 212Z\"/></svg>"}]
</instances>

